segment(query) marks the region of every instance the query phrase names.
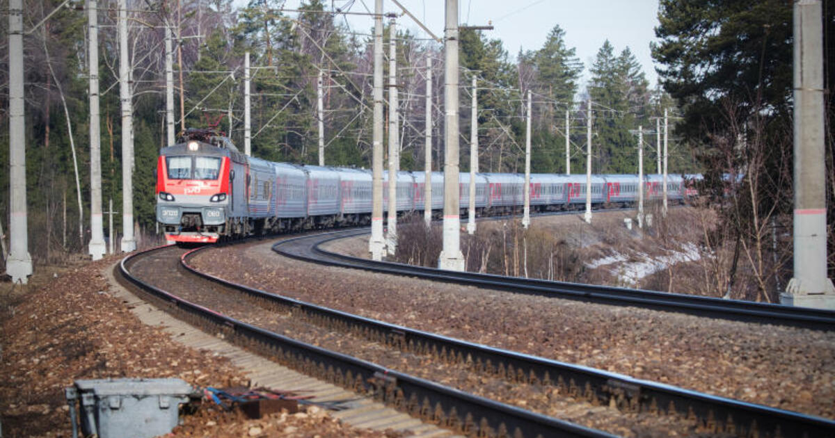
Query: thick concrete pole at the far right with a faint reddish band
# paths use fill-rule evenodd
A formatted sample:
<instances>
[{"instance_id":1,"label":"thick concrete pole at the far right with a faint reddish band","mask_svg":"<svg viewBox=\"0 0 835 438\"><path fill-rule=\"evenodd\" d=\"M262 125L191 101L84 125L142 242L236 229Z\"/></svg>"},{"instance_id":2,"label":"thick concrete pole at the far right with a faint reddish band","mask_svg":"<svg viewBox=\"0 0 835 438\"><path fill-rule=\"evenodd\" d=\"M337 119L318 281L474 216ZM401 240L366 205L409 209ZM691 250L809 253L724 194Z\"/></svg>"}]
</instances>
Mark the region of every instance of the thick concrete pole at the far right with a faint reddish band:
<instances>
[{"instance_id":1,"label":"thick concrete pole at the far right with a faint reddish band","mask_svg":"<svg viewBox=\"0 0 835 438\"><path fill-rule=\"evenodd\" d=\"M827 278L827 199L820 0L794 3L794 276L783 305L835 309Z\"/></svg>"}]
</instances>

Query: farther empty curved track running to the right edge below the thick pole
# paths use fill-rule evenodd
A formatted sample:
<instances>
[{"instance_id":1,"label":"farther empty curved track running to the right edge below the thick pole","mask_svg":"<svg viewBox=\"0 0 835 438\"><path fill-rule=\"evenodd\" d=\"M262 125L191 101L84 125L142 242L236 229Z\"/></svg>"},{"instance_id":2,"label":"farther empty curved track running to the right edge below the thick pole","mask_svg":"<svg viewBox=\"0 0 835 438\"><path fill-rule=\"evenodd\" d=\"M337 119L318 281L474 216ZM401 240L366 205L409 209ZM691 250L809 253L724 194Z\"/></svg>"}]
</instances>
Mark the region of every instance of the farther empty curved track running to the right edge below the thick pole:
<instances>
[{"instance_id":1,"label":"farther empty curved track running to the right edge below the thick pole","mask_svg":"<svg viewBox=\"0 0 835 438\"><path fill-rule=\"evenodd\" d=\"M308 262L367 269L385 274L407 275L455 284L467 284L515 293L545 295L569 300L582 300L605 305L635 306L651 310L665 310L722 320L737 320L760 324L787 325L812 330L835 330L835 311L752 301L722 300L719 298L669 294L640 289L625 289L594 284L578 284L540 279L504 277L493 274L454 272L424 268L410 264L376 262L321 249L331 240L367 234L367 230L341 230L327 234L313 234L286 239L274 245L279 254Z\"/></svg>"}]
</instances>

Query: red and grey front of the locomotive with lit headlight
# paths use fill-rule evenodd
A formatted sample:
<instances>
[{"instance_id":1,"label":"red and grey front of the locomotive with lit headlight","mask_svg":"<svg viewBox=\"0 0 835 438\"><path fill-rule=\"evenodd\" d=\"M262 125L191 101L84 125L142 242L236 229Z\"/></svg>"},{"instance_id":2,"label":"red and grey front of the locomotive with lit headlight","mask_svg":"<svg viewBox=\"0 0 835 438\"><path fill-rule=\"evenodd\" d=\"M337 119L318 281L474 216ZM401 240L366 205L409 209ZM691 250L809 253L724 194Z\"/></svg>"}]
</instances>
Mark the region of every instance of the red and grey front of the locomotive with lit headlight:
<instances>
[{"instance_id":1,"label":"red and grey front of the locomotive with lit headlight","mask_svg":"<svg viewBox=\"0 0 835 438\"><path fill-rule=\"evenodd\" d=\"M188 132L180 140L159 154L157 221L170 241L214 243L234 214L235 162L245 161L225 137Z\"/></svg>"}]
</instances>

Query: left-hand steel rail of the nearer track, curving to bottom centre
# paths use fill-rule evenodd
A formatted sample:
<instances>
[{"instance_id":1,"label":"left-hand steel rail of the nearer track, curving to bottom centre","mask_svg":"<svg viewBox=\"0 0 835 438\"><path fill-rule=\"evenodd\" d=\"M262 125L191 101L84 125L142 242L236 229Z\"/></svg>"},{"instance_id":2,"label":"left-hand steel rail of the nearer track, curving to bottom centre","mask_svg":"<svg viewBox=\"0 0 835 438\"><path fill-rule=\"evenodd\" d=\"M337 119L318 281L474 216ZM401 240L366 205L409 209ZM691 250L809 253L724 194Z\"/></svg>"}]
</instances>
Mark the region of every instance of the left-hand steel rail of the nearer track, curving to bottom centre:
<instances>
[{"instance_id":1,"label":"left-hand steel rail of the nearer track, curving to bottom centre","mask_svg":"<svg viewBox=\"0 0 835 438\"><path fill-rule=\"evenodd\" d=\"M430 380L389 370L365 360L278 335L230 318L216 310L183 300L130 274L129 264L139 257L164 248L149 249L125 257L119 264L119 274L149 294L152 299L163 304L164 310L195 325L220 330L226 340L266 355L279 363L299 368L301 372L308 375L328 380L359 393L373 395L377 400L393 405L398 410L424 420L431 420L463 435L532 438L614 436L600 430L471 395ZM185 260L189 254L184 254L183 259ZM219 280L215 279L215 281ZM243 288L240 285L233 285L233 287ZM261 292L261 295L265 294L266 292ZM301 305L301 301L291 301L294 301L294 305Z\"/></svg>"}]
</instances>

